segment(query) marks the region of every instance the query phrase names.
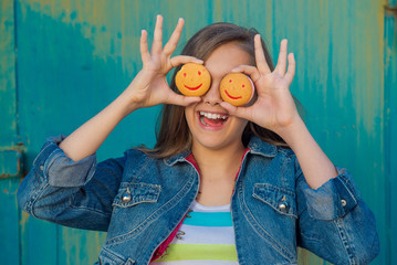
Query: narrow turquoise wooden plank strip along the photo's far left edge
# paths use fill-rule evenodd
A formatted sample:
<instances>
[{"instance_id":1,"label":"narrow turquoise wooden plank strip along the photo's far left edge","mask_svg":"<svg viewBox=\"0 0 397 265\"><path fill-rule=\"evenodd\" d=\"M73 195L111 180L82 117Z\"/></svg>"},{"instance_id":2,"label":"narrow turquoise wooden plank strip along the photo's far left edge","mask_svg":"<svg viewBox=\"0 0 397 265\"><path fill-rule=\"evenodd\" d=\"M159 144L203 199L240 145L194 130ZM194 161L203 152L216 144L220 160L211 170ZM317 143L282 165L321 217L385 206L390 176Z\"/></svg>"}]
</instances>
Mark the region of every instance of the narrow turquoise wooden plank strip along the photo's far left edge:
<instances>
[{"instance_id":1,"label":"narrow turquoise wooden plank strip along the photo's far left edge","mask_svg":"<svg viewBox=\"0 0 397 265\"><path fill-rule=\"evenodd\" d=\"M17 155L4 147L14 145L17 134L17 93L14 54L14 6L12 0L0 2L0 176L6 178L17 170ZM15 192L19 179L0 179L0 261L19 264L19 209Z\"/></svg>"}]
</instances>

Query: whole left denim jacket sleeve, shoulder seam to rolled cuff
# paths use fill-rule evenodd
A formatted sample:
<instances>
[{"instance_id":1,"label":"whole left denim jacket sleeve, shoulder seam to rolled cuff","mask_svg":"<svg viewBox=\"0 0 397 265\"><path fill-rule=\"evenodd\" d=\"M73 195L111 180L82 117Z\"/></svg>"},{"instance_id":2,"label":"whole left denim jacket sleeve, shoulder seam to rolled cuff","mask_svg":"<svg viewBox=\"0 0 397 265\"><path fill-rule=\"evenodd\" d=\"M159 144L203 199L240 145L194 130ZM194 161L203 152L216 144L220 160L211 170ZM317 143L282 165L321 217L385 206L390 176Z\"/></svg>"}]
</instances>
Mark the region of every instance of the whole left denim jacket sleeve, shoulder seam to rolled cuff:
<instances>
[{"instance_id":1,"label":"whole left denim jacket sleeve, shoulder seam to rolled cuff","mask_svg":"<svg viewBox=\"0 0 397 265\"><path fill-rule=\"evenodd\" d=\"M18 189L18 203L29 214L58 224L107 231L125 157L96 163L96 156L73 161L49 140Z\"/></svg>"}]
</instances>

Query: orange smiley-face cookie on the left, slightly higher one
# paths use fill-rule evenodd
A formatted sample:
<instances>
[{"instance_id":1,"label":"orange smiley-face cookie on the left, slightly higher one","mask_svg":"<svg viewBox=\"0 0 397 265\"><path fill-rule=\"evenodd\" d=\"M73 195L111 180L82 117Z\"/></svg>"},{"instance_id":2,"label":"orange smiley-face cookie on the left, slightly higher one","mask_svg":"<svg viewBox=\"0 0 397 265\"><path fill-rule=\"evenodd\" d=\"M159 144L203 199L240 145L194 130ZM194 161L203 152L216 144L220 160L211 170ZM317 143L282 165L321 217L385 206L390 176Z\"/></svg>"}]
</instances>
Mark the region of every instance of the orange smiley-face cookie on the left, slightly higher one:
<instances>
[{"instance_id":1,"label":"orange smiley-face cookie on the left, slightly higher one","mask_svg":"<svg viewBox=\"0 0 397 265\"><path fill-rule=\"evenodd\" d=\"M178 71L175 83L185 96L202 96L211 85L211 75L203 65L187 63Z\"/></svg>"}]
</instances>

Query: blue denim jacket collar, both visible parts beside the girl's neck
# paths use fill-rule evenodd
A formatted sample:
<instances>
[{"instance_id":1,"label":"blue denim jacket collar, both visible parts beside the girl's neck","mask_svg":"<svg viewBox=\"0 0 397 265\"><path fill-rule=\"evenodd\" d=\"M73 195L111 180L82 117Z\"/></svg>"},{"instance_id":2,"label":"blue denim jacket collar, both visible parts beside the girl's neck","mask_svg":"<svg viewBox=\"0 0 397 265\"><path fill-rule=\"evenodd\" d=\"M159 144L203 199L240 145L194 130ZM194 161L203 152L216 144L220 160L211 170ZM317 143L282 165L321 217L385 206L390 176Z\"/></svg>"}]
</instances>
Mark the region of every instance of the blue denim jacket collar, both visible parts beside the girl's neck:
<instances>
[{"instance_id":1,"label":"blue denim jacket collar, both visible parts beside the girl's neck","mask_svg":"<svg viewBox=\"0 0 397 265\"><path fill-rule=\"evenodd\" d=\"M275 157L279 151L279 147L268 144L265 141L262 141L257 136L251 137L250 142L248 144L248 149L249 149L249 152L251 152L253 155L260 155L263 157ZM190 151L190 149L188 149L180 153L165 158L164 162L168 166L174 166L177 162L186 161L186 158L190 153L191 153L191 151Z\"/></svg>"}]
</instances>

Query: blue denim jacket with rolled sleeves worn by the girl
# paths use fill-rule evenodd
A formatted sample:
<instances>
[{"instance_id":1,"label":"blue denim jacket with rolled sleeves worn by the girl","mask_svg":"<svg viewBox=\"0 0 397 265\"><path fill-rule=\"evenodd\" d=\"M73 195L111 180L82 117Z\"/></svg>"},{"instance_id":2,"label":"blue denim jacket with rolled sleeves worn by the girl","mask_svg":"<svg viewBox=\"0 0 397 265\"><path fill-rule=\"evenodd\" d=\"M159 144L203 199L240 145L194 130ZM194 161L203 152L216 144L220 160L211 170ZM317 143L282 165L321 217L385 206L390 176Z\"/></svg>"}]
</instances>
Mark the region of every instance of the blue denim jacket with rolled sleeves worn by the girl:
<instances>
[{"instance_id":1,"label":"blue denim jacket with rolled sleeves worn by the girl","mask_svg":"<svg viewBox=\"0 0 397 265\"><path fill-rule=\"evenodd\" d=\"M148 264L197 197L190 151L157 159L130 149L101 163L95 155L74 162L59 141L48 141L34 160L18 191L20 206L58 224L106 231L96 264ZM252 137L231 199L239 264L296 264L297 246L334 264L375 258L375 218L348 172L338 173L311 189L290 149Z\"/></svg>"}]
</instances>

